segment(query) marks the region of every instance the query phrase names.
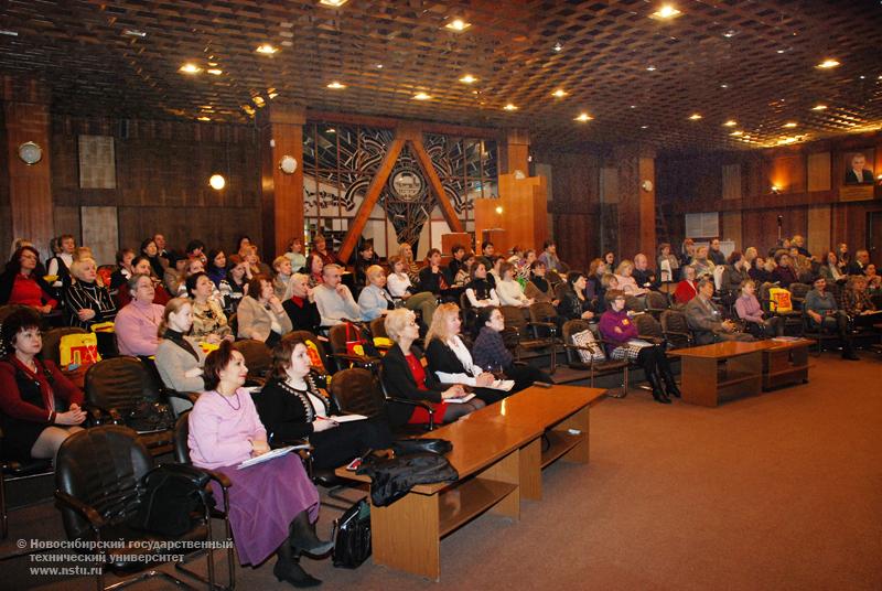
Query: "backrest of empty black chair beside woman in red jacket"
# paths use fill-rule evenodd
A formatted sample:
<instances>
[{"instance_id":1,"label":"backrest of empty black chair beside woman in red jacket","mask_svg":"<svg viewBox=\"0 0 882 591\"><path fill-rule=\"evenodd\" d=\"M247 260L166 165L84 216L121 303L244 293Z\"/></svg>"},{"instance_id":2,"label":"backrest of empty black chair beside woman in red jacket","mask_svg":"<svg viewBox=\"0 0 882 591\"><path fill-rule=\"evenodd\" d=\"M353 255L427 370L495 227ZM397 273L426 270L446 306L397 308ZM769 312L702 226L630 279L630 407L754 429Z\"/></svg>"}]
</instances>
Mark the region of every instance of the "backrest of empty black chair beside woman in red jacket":
<instances>
[{"instance_id":1,"label":"backrest of empty black chair beside woman in red jacket","mask_svg":"<svg viewBox=\"0 0 882 591\"><path fill-rule=\"evenodd\" d=\"M86 370L86 404L105 410L115 409L123 417L138 402L159 401L159 384L138 357L101 359Z\"/></svg>"}]
</instances>

